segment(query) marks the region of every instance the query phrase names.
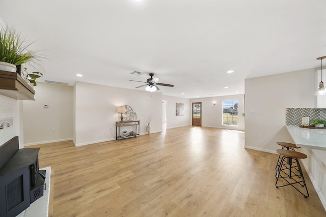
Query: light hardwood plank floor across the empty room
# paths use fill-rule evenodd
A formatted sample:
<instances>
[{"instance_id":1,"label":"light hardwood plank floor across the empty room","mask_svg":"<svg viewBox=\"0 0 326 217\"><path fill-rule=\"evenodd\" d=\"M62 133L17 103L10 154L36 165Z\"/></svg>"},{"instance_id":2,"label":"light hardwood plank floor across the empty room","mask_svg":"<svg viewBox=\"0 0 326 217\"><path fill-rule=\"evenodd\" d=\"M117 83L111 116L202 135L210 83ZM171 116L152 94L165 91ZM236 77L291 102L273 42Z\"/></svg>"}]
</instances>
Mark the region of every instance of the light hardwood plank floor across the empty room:
<instances>
[{"instance_id":1,"label":"light hardwood plank floor across the empty room","mask_svg":"<svg viewBox=\"0 0 326 217\"><path fill-rule=\"evenodd\" d=\"M244 132L188 126L30 147L53 172L50 216L326 216L305 171L308 199L275 188L276 154L243 146Z\"/></svg>"}]
</instances>

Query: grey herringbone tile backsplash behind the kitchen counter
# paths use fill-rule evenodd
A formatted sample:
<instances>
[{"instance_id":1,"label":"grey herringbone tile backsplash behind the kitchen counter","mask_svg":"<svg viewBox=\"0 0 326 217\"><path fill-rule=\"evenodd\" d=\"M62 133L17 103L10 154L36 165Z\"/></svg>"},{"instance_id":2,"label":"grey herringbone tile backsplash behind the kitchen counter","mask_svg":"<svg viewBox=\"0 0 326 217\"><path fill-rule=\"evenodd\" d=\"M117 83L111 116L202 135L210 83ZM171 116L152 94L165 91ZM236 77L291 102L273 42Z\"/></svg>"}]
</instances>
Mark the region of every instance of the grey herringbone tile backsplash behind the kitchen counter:
<instances>
[{"instance_id":1,"label":"grey herringbone tile backsplash behind the kitchen counter","mask_svg":"<svg viewBox=\"0 0 326 217\"><path fill-rule=\"evenodd\" d=\"M326 109L324 108L287 108L286 125L301 125L302 117L310 119L321 118L326 120Z\"/></svg>"}]
</instances>

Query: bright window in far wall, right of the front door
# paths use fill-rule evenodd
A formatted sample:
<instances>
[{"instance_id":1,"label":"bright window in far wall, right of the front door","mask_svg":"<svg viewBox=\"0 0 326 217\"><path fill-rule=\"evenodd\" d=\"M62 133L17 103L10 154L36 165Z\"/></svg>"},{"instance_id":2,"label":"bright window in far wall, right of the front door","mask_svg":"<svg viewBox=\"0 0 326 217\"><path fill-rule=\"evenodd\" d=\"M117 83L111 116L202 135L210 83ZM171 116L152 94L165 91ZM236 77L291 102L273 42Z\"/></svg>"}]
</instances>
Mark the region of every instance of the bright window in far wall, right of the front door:
<instances>
[{"instance_id":1,"label":"bright window in far wall, right of the front door","mask_svg":"<svg viewBox=\"0 0 326 217\"><path fill-rule=\"evenodd\" d=\"M223 125L238 126L238 101L223 101Z\"/></svg>"}]
</instances>

